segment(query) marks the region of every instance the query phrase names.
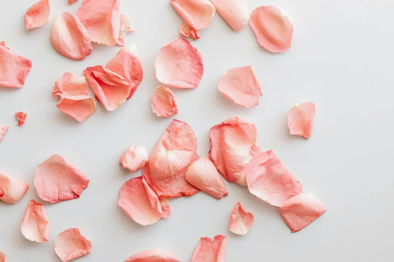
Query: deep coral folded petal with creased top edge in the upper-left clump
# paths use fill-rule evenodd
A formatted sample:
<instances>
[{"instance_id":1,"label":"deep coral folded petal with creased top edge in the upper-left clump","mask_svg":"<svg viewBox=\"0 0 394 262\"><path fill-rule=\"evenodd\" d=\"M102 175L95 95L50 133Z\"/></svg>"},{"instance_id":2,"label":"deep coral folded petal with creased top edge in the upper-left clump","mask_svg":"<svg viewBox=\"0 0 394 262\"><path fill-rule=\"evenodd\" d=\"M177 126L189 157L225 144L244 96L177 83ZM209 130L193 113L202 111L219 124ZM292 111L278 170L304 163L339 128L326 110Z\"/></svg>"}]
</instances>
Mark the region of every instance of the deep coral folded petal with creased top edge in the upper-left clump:
<instances>
[{"instance_id":1,"label":"deep coral folded petal with creased top edge in the upper-left clump","mask_svg":"<svg viewBox=\"0 0 394 262\"><path fill-rule=\"evenodd\" d=\"M108 111L118 108L130 94L131 85L127 79L107 68L88 67L83 74L98 100Z\"/></svg>"}]
</instances>

